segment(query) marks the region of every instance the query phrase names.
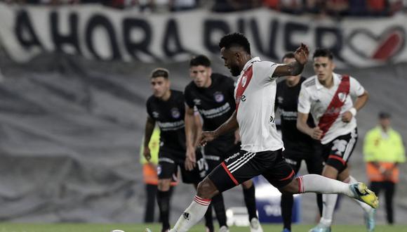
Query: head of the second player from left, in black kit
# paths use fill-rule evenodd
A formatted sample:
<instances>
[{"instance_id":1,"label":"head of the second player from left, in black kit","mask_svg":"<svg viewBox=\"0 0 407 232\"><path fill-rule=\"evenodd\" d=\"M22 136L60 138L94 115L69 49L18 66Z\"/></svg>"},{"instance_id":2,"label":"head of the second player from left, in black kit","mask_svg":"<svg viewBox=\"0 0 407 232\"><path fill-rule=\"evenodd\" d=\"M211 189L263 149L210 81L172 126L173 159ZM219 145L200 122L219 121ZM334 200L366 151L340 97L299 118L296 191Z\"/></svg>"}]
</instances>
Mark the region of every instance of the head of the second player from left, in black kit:
<instances>
[{"instance_id":1,"label":"head of the second player from left, in black kit","mask_svg":"<svg viewBox=\"0 0 407 232\"><path fill-rule=\"evenodd\" d=\"M211 60L204 55L194 56L189 61L189 77L199 88L206 88L211 85L212 68Z\"/></svg>"}]
</instances>

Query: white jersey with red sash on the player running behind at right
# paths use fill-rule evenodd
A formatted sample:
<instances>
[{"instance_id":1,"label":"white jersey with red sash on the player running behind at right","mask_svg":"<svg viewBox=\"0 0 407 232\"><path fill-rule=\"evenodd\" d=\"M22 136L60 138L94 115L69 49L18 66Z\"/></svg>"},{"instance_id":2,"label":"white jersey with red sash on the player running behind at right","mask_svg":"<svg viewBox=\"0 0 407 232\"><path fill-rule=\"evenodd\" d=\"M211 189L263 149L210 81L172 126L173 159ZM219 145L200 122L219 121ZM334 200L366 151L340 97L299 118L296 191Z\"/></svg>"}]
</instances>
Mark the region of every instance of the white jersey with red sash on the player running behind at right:
<instances>
[{"instance_id":1,"label":"white jersey with red sash on the player running behind at right","mask_svg":"<svg viewBox=\"0 0 407 232\"><path fill-rule=\"evenodd\" d=\"M327 89L319 83L316 75L309 77L305 82L302 82L300 96L298 96L298 112L304 114L311 113L312 117L314 117L315 124L318 125L321 116L326 112L328 105L331 103L333 96L338 90L341 79L342 75L333 73L333 86L331 89ZM353 107L351 96L361 96L364 91L365 89L358 81L356 81L356 79L349 77L349 94L342 97L345 99L345 103L340 109L338 118L333 122L325 136L323 136L321 140L322 144L329 143L338 136L349 134L356 128L355 117L352 117L350 122L342 122L341 115Z\"/></svg>"}]
</instances>

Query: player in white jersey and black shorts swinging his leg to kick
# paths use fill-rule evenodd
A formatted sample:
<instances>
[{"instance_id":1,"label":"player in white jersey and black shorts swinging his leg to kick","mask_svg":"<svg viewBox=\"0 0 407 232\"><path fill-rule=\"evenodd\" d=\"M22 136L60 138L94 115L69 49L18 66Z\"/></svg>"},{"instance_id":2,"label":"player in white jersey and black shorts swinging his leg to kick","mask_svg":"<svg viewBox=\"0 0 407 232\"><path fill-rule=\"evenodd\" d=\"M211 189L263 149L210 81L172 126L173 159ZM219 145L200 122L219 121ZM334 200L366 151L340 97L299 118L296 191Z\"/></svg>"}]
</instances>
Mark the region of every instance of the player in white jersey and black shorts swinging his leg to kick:
<instances>
[{"instance_id":1,"label":"player in white jersey and black shorts swinging his leg to kick","mask_svg":"<svg viewBox=\"0 0 407 232\"><path fill-rule=\"evenodd\" d=\"M287 65L252 58L250 44L240 33L225 35L219 47L225 66L232 75L240 75L235 89L236 110L215 131L203 132L201 145L239 127L241 150L215 167L199 183L194 200L170 232L188 231L204 217L214 195L258 175L265 176L281 192L343 193L377 207L378 199L364 183L349 185L316 174L295 178L293 169L281 155L283 142L274 124L275 80L302 72L308 59L307 46L301 44L295 51L296 61Z\"/></svg>"}]
</instances>

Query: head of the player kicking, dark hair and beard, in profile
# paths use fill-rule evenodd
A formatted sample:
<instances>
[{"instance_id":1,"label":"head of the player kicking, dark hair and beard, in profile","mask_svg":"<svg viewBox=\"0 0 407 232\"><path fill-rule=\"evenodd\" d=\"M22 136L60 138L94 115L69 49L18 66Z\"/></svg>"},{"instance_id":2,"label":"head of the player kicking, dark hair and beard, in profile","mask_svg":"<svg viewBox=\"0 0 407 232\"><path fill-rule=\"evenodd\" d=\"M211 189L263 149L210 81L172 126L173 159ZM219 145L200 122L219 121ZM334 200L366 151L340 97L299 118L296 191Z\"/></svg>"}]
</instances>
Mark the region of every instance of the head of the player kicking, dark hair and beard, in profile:
<instances>
[{"instance_id":1,"label":"head of the player kicking, dark hair and beard, in profile","mask_svg":"<svg viewBox=\"0 0 407 232\"><path fill-rule=\"evenodd\" d=\"M250 43L241 33L226 34L219 42L220 54L225 67L234 76L239 76L247 61L251 59Z\"/></svg>"}]
</instances>

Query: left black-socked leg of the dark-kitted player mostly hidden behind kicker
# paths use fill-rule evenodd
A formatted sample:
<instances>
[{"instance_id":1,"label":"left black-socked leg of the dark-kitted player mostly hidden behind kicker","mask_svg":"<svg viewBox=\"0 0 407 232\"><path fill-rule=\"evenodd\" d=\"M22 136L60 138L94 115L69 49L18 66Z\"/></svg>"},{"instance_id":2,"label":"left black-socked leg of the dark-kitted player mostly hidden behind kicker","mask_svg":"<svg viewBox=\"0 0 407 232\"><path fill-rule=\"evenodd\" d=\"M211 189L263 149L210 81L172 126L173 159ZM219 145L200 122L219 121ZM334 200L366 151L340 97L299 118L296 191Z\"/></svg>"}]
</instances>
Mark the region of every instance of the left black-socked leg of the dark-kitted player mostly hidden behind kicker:
<instances>
[{"instance_id":1,"label":"left black-socked leg of the dark-kitted player mostly hidden behind kicker","mask_svg":"<svg viewBox=\"0 0 407 232\"><path fill-rule=\"evenodd\" d=\"M286 162L295 173L298 173L301 167L301 159L287 158L285 157ZM293 205L294 197L291 193L281 194L281 217L283 218L283 232L291 231L291 219L293 217Z\"/></svg>"}]
</instances>

